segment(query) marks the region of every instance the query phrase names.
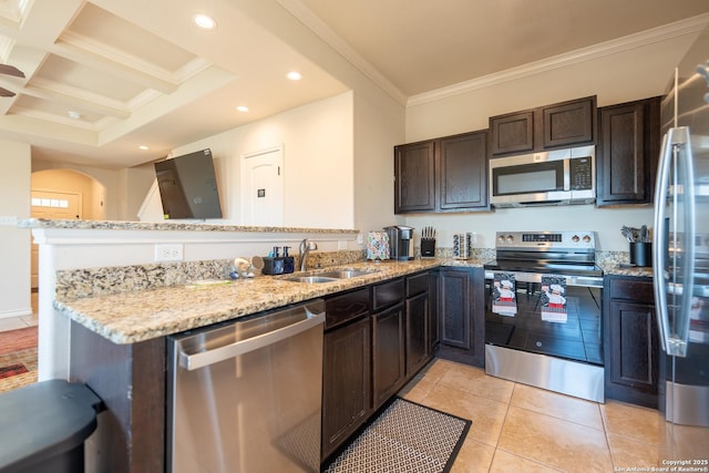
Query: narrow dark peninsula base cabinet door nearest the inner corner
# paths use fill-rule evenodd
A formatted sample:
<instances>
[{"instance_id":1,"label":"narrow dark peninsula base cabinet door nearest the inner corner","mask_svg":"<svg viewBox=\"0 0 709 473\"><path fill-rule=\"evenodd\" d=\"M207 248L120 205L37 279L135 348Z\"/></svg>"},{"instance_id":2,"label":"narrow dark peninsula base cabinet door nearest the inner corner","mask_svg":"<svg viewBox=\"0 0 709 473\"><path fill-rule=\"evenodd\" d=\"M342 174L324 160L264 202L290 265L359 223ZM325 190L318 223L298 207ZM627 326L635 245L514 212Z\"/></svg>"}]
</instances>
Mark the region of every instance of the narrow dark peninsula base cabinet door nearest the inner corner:
<instances>
[{"instance_id":1,"label":"narrow dark peninsula base cabinet door nearest the inner corner","mask_svg":"<svg viewBox=\"0 0 709 473\"><path fill-rule=\"evenodd\" d=\"M429 292L407 299L407 378L429 361Z\"/></svg>"}]
</instances>

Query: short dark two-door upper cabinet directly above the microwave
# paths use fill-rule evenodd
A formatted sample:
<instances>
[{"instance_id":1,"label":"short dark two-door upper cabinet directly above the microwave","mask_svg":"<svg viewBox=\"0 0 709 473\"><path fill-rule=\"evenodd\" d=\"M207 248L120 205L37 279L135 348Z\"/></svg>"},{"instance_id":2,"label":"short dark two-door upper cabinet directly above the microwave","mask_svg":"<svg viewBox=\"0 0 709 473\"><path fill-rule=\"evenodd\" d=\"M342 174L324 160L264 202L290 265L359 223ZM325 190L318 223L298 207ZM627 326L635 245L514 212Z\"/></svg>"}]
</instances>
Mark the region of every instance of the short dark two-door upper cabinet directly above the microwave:
<instances>
[{"instance_id":1,"label":"short dark two-door upper cabinet directly above the microwave","mask_svg":"<svg viewBox=\"0 0 709 473\"><path fill-rule=\"evenodd\" d=\"M595 142L596 96L490 117L493 156Z\"/></svg>"}]
</instances>

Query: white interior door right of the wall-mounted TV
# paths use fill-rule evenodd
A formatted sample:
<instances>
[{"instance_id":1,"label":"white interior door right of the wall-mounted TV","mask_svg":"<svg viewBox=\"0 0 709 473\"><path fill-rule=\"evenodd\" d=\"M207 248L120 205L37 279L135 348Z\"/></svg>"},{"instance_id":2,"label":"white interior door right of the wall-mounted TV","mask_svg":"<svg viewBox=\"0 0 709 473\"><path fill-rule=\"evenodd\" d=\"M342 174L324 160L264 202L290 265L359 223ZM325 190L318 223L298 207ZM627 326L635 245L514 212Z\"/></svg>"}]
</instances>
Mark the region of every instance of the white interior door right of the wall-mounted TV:
<instances>
[{"instance_id":1,"label":"white interior door right of the wall-mounted TV","mask_svg":"<svg viewBox=\"0 0 709 473\"><path fill-rule=\"evenodd\" d=\"M282 146L242 155L242 225L282 226Z\"/></svg>"}]
</instances>

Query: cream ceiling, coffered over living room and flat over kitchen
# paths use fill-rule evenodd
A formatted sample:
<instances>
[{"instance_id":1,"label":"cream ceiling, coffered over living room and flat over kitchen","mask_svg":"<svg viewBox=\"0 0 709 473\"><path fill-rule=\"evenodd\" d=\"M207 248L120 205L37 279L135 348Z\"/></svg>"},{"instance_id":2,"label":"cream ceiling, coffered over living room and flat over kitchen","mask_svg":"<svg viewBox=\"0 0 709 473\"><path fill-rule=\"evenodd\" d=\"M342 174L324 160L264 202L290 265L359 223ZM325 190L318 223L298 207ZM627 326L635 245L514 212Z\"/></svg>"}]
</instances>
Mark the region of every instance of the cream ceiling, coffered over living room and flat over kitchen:
<instances>
[{"instance_id":1,"label":"cream ceiling, coffered over living room and flat over kitchen","mask_svg":"<svg viewBox=\"0 0 709 473\"><path fill-rule=\"evenodd\" d=\"M30 143L37 158L122 168L347 90L286 43L277 21L255 18L259 1L296 17L402 104L709 21L698 17L709 14L707 0L0 0L0 63L24 75L0 74L0 94L11 95L0 96L0 138ZM196 28L198 12L217 28ZM288 81L290 70L304 79Z\"/></svg>"}]
</instances>

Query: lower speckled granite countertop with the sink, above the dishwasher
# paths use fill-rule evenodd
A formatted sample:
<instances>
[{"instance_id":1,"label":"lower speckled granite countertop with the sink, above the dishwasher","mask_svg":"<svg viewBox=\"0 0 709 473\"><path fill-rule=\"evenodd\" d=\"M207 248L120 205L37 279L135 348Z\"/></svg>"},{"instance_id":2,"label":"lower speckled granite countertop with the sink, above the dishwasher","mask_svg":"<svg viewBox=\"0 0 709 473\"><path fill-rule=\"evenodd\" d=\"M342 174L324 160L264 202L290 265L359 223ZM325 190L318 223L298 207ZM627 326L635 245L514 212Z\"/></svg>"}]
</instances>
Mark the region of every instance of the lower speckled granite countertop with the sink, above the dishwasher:
<instances>
[{"instance_id":1,"label":"lower speckled granite countertop with the sink, above the dishwasher","mask_svg":"<svg viewBox=\"0 0 709 473\"><path fill-rule=\"evenodd\" d=\"M258 276L236 281L197 281L182 286L94 297L58 299L54 308L114 343L135 343L205 327L263 310L353 289L439 266L482 267L484 260L415 259L356 263L282 276ZM286 280L351 268L370 274L332 282Z\"/></svg>"}]
</instances>

